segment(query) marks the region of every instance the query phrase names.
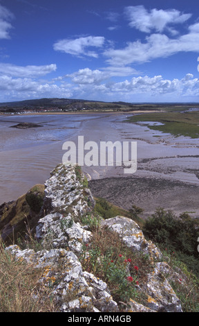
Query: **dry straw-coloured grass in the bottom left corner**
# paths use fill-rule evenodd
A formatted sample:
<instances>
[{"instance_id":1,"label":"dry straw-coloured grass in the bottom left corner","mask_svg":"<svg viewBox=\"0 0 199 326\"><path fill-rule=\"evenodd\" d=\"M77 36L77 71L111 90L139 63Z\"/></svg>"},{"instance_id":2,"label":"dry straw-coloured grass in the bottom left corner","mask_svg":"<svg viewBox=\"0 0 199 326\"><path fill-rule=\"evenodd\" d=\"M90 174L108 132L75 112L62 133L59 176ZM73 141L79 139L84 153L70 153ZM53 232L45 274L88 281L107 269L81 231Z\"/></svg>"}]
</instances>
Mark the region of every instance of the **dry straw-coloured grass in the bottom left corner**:
<instances>
[{"instance_id":1,"label":"dry straw-coloured grass in the bottom left corner","mask_svg":"<svg viewBox=\"0 0 199 326\"><path fill-rule=\"evenodd\" d=\"M50 289L39 283L42 271L16 260L0 242L0 312L53 312Z\"/></svg>"}]
</instances>

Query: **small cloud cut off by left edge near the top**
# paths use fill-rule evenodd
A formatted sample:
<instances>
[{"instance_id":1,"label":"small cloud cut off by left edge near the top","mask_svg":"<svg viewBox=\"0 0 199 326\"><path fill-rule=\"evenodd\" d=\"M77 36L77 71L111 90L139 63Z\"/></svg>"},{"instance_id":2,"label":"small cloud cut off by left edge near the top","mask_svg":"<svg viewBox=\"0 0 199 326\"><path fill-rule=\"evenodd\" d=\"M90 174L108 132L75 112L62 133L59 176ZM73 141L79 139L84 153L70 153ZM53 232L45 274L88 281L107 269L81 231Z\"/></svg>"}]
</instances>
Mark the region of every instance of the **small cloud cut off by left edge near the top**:
<instances>
[{"instance_id":1,"label":"small cloud cut off by left edge near the top","mask_svg":"<svg viewBox=\"0 0 199 326\"><path fill-rule=\"evenodd\" d=\"M12 25L10 20L14 17L12 12L6 7L1 6L0 4L0 39L9 39L10 38L10 29Z\"/></svg>"}]
</instances>

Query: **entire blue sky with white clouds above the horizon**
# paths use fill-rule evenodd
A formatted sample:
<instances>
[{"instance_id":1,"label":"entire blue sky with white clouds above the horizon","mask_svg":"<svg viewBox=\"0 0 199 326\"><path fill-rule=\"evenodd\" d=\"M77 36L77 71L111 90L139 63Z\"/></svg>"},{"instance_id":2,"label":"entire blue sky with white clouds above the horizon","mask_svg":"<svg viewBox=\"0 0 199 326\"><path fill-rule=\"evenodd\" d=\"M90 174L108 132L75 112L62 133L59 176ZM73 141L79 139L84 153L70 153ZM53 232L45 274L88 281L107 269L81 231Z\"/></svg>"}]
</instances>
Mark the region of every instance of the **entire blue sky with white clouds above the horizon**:
<instances>
[{"instance_id":1,"label":"entire blue sky with white clouds above the horizon","mask_svg":"<svg viewBox=\"0 0 199 326\"><path fill-rule=\"evenodd\" d=\"M0 102L199 102L199 4L0 0Z\"/></svg>"}]
</instances>

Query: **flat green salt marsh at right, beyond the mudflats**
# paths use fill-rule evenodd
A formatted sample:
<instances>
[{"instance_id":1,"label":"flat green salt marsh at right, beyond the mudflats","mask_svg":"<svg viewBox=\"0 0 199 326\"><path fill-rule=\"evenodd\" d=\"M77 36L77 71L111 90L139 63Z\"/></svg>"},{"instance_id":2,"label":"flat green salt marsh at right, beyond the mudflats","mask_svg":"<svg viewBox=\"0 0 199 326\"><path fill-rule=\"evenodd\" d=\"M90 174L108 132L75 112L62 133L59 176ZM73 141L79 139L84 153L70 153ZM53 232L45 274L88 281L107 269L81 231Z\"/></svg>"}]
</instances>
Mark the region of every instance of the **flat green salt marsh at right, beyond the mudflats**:
<instances>
[{"instance_id":1,"label":"flat green salt marsh at right, beyond the mudflats","mask_svg":"<svg viewBox=\"0 0 199 326\"><path fill-rule=\"evenodd\" d=\"M199 137L199 112L151 112L150 114L137 114L126 121L133 123L159 122L163 125L147 125L147 127L152 130L171 133L175 137L180 135L191 138Z\"/></svg>"}]
</instances>

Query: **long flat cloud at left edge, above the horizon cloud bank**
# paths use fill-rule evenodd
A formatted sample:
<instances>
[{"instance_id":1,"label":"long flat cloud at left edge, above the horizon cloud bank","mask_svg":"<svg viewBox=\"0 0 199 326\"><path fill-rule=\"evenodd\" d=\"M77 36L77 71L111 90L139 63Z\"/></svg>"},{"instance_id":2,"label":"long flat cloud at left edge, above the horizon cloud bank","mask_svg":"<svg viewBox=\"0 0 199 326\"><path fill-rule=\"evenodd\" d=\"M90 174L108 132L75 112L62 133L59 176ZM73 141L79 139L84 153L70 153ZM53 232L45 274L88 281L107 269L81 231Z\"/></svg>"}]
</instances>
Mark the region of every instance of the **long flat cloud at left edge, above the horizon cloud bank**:
<instances>
[{"instance_id":1,"label":"long flat cloud at left edge, above the horizon cloud bank","mask_svg":"<svg viewBox=\"0 0 199 326\"><path fill-rule=\"evenodd\" d=\"M56 69L57 66L55 64L44 66L29 65L26 67L22 67L0 62L0 74L5 74L6 76L12 77L35 78L49 74L50 72L55 71Z\"/></svg>"}]
</instances>

